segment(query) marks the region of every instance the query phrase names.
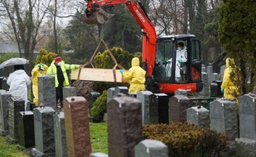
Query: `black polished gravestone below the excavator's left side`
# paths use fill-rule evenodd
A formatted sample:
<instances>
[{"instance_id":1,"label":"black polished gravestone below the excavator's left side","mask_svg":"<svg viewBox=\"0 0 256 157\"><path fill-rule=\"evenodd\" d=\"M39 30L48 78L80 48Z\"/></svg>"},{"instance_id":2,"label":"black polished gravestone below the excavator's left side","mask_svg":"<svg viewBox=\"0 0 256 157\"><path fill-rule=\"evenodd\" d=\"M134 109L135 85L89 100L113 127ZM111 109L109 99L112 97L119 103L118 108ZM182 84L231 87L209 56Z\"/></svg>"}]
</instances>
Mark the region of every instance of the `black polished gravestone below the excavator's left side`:
<instances>
[{"instance_id":1,"label":"black polished gravestone below the excavator's left side","mask_svg":"<svg viewBox=\"0 0 256 157\"><path fill-rule=\"evenodd\" d=\"M155 93L149 96L149 119L151 124L169 123L169 96Z\"/></svg>"}]
</instances>

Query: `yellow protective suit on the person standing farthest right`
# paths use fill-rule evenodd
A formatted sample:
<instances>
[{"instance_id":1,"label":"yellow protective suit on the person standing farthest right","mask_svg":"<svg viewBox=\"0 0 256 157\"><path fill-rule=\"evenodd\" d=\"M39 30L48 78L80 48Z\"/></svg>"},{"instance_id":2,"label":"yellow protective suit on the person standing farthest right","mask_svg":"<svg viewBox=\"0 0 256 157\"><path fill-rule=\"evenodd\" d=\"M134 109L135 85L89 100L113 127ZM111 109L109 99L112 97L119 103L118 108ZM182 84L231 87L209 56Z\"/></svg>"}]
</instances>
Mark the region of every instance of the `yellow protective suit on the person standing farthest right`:
<instances>
[{"instance_id":1,"label":"yellow protective suit on the person standing farthest right","mask_svg":"<svg viewBox=\"0 0 256 157\"><path fill-rule=\"evenodd\" d=\"M237 95L239 93L238 88L234 85L234 83L230 79L230 74L232 72L232 67L230 66L231 64L235 64L234 60L231 58L227 58L226 59L227 68L224 71L223 81L221 84L221 89L224 89L224 97L226 99L236 99L234 95Z\"/></svg>"}]
</instances>

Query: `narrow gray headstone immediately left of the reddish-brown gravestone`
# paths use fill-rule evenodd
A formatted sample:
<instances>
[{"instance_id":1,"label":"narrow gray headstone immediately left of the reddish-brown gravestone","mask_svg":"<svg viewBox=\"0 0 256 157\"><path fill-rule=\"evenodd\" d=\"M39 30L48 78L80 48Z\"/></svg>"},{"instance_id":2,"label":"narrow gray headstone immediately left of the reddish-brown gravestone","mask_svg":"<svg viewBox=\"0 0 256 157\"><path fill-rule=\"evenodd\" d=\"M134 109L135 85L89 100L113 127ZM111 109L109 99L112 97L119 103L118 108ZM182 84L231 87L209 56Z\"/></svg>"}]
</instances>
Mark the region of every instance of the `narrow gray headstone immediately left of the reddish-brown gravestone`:
<instances>
[{"instance_id":1,"label":"narrow gray headstone immediately left of the reddish-brown gravestone","mask_svg":"<svg viewBox=\"0 0 256 157\"><path fill-rule=\"evenodd\" d=\"M55 152L57 157L68 156L67 154L67 142L66 142L66 130L64 122L64 112L60 111L59 114L54 114L54 140L55 140Z\"/></svg>"}]
</instances>

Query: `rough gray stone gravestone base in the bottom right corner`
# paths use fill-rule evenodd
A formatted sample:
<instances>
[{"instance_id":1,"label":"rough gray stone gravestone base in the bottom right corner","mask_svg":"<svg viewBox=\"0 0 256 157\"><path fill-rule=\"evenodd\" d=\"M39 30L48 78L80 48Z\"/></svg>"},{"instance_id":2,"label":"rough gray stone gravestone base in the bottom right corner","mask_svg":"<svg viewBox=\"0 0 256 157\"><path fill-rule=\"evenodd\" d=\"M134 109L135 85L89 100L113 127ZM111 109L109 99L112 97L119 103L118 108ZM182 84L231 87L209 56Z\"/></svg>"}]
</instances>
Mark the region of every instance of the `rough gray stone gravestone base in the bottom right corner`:
<instances>
[{"instance_id":1,"label":"rough gray stone gravestone base in the bottom right corner","mask_svg":"<svg viewBox=\"0 0 256 157\"><path fill-rule=\"evenodd\" d=\"M244 138L236 138L236 156L256 156L256 141L247 140Z\"/></svg>"}]
</instances>

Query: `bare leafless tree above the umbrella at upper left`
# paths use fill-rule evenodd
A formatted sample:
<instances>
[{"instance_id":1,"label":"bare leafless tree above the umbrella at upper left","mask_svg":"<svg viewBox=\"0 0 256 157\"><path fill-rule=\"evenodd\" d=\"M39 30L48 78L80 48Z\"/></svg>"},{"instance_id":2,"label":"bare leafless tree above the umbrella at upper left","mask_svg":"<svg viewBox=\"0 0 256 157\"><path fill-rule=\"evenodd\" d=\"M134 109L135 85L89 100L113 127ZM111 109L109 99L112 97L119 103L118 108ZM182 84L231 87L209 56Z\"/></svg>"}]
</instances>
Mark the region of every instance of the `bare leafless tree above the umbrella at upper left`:
<instances>
[{"instance_id":1,"label":"bare leafless tree above the umbrella at upper left","mask_svg":"<svg viewBox=\"0 0 256 157\"><path fill-rule=\"evenodd\" d=\"M40 0L0 0L1 27L5 36L17 43L20 57L33 60L39 28L49 9L48 1ZM12 32L12 33L11 33Z\"/></svg>"}]
</instances>

